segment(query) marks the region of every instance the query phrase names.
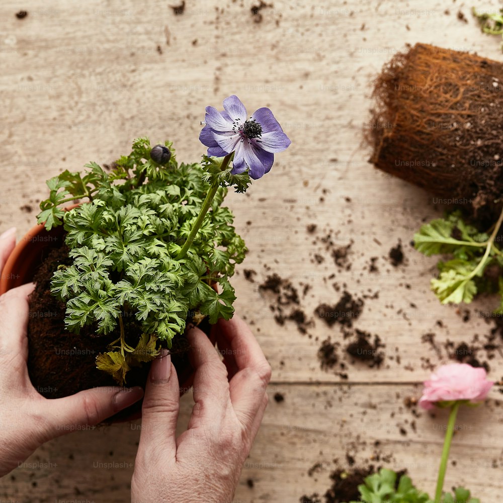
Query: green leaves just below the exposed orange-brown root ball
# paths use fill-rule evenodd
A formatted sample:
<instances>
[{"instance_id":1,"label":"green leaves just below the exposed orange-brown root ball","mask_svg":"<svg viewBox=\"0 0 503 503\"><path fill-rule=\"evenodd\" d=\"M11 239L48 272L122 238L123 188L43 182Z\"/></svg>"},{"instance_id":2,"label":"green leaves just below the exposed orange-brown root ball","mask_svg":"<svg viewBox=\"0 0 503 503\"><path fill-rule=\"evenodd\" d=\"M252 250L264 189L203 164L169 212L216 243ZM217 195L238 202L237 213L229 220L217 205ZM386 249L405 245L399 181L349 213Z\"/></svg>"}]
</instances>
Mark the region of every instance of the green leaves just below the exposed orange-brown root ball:
<instances>
[{"instance_id":1,"label":"green leaves just below the exposed orange-brown root ball","mask_svg":"<svg viewBox=\"0 0 503 503\"><path fill-rule=\"evenodd\" d=\"M496 224L499 227L500 221ZM496 231L498 229L495 229ZM479 232L464 222L459 211L425 224L414 234L414 247L426 256L451 255L452 259L439 261L439 276L431 280L432 290L443 304L470 303L477 293L492 293L503 283L496 285L484 276L488 267L503 266L501 251L494 244L495 232L491 235Z\"/></svg>"}]
</instances>

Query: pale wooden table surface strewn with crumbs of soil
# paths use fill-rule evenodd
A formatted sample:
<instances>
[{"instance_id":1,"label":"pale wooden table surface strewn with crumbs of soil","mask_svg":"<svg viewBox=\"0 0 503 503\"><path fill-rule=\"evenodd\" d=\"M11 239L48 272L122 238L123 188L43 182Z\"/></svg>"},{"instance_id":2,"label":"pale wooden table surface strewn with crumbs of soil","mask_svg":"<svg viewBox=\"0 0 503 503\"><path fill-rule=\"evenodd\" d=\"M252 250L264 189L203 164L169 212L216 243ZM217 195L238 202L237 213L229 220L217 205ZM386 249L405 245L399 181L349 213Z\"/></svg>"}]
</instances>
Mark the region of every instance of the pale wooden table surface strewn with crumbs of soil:
<instances>
[{"instance_id":1,"label":"pale wooden table surface strewn with crumbs of soil","mask_svg":"<svg viewBox=\"0 0 503 503\"><path fill-rule=\"evenodd\" d=\"M498 37L482 35L470 14L472 4L494 10L498 2L272 0L256 22L250 8L259 3L187 0L185 12L175 15L169 2L158 0L3 2L0 229L16 225L21 237L47 194L45 180L61 170L110 162L143 135L171 139L178 158L192 162L204 153L198 133L205 106L218 108L237 94L250 113L270 107L292 145L247 196L228 197L249 248L233 278L236 309L273 367L272 399L235 502L291 503L322 494L330 471L348 466L347 454L358 466L379 455L391 468L406 467L433 494L446 414L416 417L403 400L421 394L432 365L449 361L446 342L478 335L483 345L496 299L468 306L467 321L463 307L439 304L429 289L436 261L409 241L441 208L426 192L376 171L367 162L363 132L372 79L405 44L501 60ZM28 16L19 20L21 9ZM313 233L310 224L316 224ZM353 241L349 270L329 257L321 241L327 234L335 246ZM393 267L388 253L399 240L405 260ZM325 260L318 263L315 254ZM244 269L256 271L255 282L245 279ZM272 274L298 290L311 320L307 333L293 321L275 321L275 296L259 288ZM321 303L335 304L343 290L366 297L353 324L381 338L380 368L352 362L340 324L330 327L314 314ZM437 349L423 340L427 333L435 333ZM317 352L328 337L342 346L347 379L320 366ZM489 359L481 350L477 358L488 361L491 378L501 378L501 351ZM276 393L284 401L275 401ZM485 502L503 485L500 396L494 387L484 405L460 412L451 454L456 466L449 466L445 484L464 484ZM191 396L182 402L180 429ZM0 480L0 501L128 501L139 428L135 422L49 442ZM309 476L315 463L321 467Z\"/></svg>"}]
</instances>

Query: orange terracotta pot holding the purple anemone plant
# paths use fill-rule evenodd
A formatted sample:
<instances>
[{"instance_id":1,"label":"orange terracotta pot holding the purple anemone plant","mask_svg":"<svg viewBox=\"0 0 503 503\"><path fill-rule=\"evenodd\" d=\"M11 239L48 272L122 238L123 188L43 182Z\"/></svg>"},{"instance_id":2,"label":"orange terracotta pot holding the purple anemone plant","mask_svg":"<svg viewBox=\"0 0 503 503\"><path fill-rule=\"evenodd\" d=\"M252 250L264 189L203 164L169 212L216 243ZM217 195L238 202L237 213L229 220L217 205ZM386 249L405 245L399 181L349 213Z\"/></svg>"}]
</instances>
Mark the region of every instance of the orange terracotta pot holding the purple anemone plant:
<instances>
[{"instance_id":1,"label":"orange terracotta pot holding the purple anemone plant","mask_svg":"<svg viewBox=\"0 0 503 503\"><path fill-rule=\"evenodd\" d=\"M78 205L72 205L66 210L70 210ZM43 224L36 225L31 228L26 235L17 243L12 254L10 255L2 275L0 276L0 295L8 290L29 283L42 263L54 248L61 246L63 242L64 229L60 225L47 231ZM211 325L205 323L204 320L200 324L200 328L208 335L212 344L215 344L215 337L211 333ZM186 393L192 386L194 380L194 369L188 367L178 369L178 377L180 383L180 395ZM134 405L132 407L135 407ZM135 408L138 408L137 406ZM130 415L133 410L126 409L128 414L117 414L112 417L112 420L124 420L132 418Z\"/></svg>"}]
</instances>

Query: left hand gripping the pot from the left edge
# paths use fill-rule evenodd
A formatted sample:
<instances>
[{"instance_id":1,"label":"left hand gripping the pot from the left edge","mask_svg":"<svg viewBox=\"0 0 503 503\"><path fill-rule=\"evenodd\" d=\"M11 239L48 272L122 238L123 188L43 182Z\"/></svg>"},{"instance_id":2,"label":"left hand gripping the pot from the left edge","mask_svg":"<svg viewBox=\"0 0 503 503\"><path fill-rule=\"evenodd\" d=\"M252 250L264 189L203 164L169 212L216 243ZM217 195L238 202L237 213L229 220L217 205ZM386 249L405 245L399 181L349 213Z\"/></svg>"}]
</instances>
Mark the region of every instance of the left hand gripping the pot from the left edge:
<instances>
[{"instance_id":1,"label":"left hand gripping the pot from the left edge","mask_svg":"<svg viewBox=\"0 0 503 503\"><path fill-rule=\"evenodd\" d=\"M0 235L0 272L16 243L16 229ZM28 358L28 295L33 283L0 297L0 476L16 468L44 442L94 426L138 401L140 387L103 387L49 400L33 387Z\"/></svg>"}]
</instances>

